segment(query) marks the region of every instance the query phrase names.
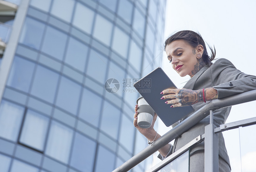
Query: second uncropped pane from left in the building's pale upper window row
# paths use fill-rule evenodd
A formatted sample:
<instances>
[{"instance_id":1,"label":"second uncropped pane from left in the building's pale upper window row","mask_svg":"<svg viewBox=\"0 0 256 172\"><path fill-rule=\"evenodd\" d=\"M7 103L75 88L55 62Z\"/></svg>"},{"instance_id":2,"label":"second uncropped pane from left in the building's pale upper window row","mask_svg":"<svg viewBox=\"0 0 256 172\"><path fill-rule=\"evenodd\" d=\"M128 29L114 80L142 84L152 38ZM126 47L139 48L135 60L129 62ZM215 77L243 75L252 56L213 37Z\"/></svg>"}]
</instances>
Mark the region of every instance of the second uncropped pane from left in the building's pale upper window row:
<instances>
[{"instance_id":1,"label":"second uncropped pane from left in the building's pale upper window row","mask_svg":"<svg viewBox=\"0 0 256 172\"><path fill-rule=\"evenodd\" d=\"M93 37L103 42L107 46L110 45L110 38L112 32L112 23L100 15L96 16L95 26L93 29Z\"/></svg>"}]
</instances>

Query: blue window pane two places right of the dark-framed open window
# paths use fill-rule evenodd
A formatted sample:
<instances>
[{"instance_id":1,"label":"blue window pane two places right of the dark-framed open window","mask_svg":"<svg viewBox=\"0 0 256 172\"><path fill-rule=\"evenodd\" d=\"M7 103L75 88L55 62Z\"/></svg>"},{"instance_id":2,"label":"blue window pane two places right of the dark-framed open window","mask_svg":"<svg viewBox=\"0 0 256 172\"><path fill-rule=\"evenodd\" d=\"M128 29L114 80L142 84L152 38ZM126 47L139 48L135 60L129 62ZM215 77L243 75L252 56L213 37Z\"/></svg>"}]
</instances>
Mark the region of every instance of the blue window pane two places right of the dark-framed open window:
<instances>
[{"instance_id":1,"label":"blue window pane two places right of the dark-framed open window","mask_svg":"<svg viewBox=\"0 0 256 172\"><path fill-rule=\"evenodd\" d=\"M76 133L70 165L80 171L93 171L96 143Z\"/></svg>"}]
</instances>

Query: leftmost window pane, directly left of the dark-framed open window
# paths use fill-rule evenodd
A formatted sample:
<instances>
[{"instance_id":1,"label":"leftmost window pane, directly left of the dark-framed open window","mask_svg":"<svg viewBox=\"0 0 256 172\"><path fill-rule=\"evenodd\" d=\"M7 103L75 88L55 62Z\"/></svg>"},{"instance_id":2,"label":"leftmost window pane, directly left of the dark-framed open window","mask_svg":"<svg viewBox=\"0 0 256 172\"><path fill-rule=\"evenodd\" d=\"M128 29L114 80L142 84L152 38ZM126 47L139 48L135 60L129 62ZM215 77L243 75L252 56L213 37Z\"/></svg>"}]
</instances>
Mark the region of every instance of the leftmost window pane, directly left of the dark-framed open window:
<instances>
[{"instance_id":1,"label":"leftmost window pane, directly left of the dark-framed open window","mask_svg":"<svg viewBox=\"0 0 256 172\"><path fill-rule=\"evenodd\" d=\"M2 100L0 106L0 136L16 141L23 114L24 107Z\"/></svg>"}]
</instances>

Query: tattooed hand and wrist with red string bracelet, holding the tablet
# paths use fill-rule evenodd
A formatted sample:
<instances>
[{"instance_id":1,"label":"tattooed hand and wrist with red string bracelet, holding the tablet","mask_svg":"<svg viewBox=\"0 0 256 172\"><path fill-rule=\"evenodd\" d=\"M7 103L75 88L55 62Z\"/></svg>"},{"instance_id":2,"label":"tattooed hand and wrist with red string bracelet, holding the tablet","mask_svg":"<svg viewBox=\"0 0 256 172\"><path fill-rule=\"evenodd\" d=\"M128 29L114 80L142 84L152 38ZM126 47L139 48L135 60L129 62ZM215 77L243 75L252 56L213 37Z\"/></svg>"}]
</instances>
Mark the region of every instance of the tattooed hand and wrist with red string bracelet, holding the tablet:
<instances>
[{"instance_id":1,"label":"tattooed hand and wrist with red string bracelet, holding the tablet","mask_svg":"<svg viewBox=\"0 0 256 172\"><path fill-rule=\"evenodd\" d=\"M189 106L203 100L203 89L201 90L189 90L189 89L166 89L163 90L163 100L167 100L166 104L172 104L171 107ZM205 100L210 101L218 98L218 92L214 88L206 88ZM208 94L207 94L208 93Z\"/></svg>"}]
</instances>

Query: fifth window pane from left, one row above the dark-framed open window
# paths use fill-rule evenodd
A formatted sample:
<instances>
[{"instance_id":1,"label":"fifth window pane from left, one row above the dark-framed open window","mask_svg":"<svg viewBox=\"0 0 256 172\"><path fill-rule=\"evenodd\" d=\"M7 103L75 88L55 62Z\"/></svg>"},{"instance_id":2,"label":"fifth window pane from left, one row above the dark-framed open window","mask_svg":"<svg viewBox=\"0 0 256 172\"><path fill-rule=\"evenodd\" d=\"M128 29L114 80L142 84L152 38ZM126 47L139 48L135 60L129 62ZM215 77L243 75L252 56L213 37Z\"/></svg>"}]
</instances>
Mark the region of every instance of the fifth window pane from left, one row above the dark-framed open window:
<instances>
[{"instance_id":1,"label":"fifth window pane from left, one row above the dark-framed open window","mask_svg":"<svg viewBox=\"0 0 256 172\"><path fill-rule=\"evenodd\" d=\"M116 109L111 103L105 101L100 128L114 139L117 139L119 118L120 110Z\"/></svg>"}]
</instances>

